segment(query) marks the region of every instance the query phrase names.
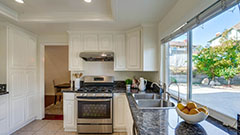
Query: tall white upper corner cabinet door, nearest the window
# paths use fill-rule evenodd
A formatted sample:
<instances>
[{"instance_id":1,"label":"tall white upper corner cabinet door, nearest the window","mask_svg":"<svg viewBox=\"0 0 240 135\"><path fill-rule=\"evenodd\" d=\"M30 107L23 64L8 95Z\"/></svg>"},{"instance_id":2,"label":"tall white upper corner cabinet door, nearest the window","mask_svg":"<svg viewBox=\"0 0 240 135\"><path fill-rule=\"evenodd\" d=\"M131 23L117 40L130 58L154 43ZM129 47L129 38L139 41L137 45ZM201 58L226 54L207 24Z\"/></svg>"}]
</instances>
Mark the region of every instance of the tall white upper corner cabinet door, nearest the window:
<instances>
[{"instance_id":1,"label":"tall white upper corner cabinet door, nearest the window","mask_svg":"<svg viewBox=\"0 0 240 135\"><path fill-rule=\"evenodd\" d=\"M127 68L130 71L141 70L141 38L140 31L127 34Z\"/></svg>"}]
</instances>

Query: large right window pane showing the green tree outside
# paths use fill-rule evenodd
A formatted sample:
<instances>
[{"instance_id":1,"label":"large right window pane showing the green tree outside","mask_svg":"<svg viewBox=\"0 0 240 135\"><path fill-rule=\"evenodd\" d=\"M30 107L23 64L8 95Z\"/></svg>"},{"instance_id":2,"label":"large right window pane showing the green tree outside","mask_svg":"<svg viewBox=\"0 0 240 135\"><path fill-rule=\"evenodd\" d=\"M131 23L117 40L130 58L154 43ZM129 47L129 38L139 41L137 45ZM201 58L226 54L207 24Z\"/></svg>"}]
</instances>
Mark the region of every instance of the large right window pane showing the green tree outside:
<instances>
[{"instance_id":1,"label":"large right window pane showing the green tree outside","mask_svg":"<svg viewBox=\"0 0 240 135\"><path fill-rule=\"evenodd\" d=\"M237 6L193 29L192 100L240 113L240 14Z\"/></svg>"}]
</instances>

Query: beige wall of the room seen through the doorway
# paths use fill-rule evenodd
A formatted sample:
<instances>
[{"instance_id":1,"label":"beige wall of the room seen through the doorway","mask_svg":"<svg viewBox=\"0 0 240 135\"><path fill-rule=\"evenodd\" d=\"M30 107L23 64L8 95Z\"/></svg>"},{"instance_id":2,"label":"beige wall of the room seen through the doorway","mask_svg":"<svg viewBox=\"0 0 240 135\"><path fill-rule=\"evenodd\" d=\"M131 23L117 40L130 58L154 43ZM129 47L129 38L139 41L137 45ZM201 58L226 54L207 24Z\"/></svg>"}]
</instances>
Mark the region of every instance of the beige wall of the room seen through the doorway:
<instances>
[{"instance_id":1,"label":"beige wall of the room seen through the doorway","mask_svg":"<svg viewBox=\"0 0 240 135\"><path fill-rule=\"evenodd\" d=\"M54 95L56 84L69 82L68 46L45 46L45 95Z\"/></svg>"}]
</instances>

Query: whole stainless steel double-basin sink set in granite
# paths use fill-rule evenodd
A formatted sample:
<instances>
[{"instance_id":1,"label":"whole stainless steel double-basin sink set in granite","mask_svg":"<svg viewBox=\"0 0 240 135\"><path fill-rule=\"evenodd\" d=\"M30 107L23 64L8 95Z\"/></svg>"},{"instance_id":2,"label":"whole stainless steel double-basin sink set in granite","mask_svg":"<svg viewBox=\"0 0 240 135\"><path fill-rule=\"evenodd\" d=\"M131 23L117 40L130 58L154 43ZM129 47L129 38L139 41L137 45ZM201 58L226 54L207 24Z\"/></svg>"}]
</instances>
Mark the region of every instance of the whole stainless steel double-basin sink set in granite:
<instances>
[{"instance_id":1,"label":"whole stainless steel double-basin sink set in granite","mask_svg":"<svg viewBox=\"0 0 240 135\"><path fill-rule=\"evenodd\" d=\"M155 93L132 94L138 109L173 109L175 104L165 101Z\"/></svg>"}]
</instances>

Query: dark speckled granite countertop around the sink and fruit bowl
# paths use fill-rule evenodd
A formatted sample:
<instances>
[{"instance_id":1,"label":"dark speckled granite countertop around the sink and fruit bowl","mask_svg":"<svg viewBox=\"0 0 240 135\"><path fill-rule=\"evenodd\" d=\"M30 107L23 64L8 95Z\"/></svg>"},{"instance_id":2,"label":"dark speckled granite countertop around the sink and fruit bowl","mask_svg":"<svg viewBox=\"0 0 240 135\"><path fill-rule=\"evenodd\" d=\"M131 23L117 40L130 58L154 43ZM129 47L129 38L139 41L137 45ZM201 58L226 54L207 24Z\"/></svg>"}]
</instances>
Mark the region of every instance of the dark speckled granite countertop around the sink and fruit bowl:
<instances>
[{"instance_id":1,"label":"dark speckled granite countertop around the sink and fruit bowl","mask_svg":"<svg viewBox=\"0 0 240 135\"><path fill-rule=\"evenodd\" d=\"M130 93L128 103L138 135L228 135L229 133L208 121L196 125L184 122L175 109L140 110Z\"/></svg>"}]
</instances>

